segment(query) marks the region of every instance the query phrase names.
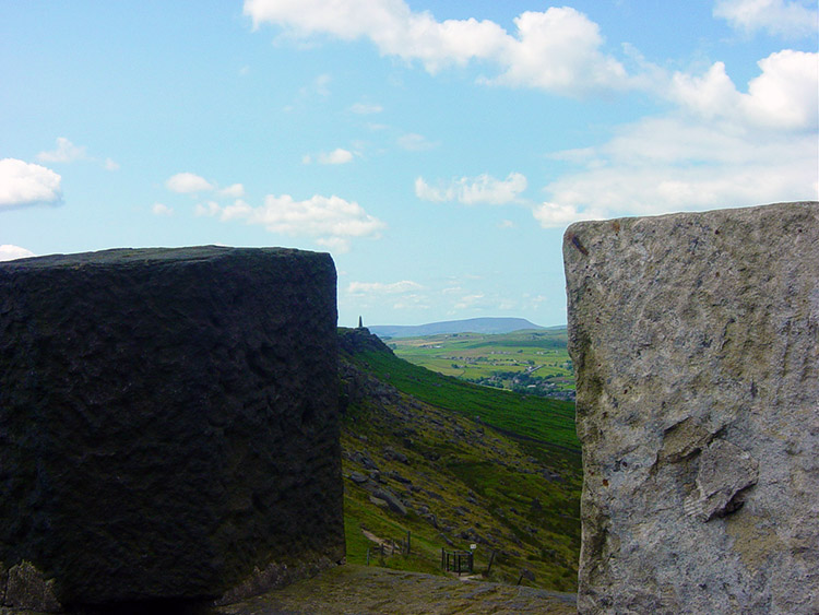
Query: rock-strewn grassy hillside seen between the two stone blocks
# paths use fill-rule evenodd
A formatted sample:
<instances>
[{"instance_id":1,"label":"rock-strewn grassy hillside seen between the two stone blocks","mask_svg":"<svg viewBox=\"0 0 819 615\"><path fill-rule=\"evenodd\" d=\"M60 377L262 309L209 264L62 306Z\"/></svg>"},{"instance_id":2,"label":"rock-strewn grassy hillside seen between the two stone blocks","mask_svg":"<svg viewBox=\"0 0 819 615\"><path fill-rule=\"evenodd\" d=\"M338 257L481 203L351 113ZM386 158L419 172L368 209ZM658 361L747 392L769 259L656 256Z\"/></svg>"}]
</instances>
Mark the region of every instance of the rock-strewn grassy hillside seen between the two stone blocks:
<instances>
[{"instance_id":1,"label":"rock-strewn grassy hillside seen between the two stone blocks","mask_svg":"<svg viewBox=\"0 0 819 615\"><path fill-rule=\"evenodd\" d=\"M477 544L478 571L496 552L494 580L517 582L526 568L535 580L525 584L574 590L581 468L572 405L441 376L365 332L341 338L348 560L365 563L373 546L363 528L382 539L410 531L413 553L381 564L435 572L441 547ZM368 482L351 481L352 472ZM407 512L373 502L377 488Z\"/></svg>"}]
</instances>

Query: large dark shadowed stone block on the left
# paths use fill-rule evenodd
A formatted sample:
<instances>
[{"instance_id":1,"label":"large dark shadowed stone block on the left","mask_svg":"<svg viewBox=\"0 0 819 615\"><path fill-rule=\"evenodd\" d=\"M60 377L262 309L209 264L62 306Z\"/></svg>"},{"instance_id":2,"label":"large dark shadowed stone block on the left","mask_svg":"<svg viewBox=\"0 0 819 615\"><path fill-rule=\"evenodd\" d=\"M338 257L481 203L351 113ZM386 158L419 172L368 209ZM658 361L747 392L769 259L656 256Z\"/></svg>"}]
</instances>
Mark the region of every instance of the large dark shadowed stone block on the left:
<instances>
[{"instance_id":1,"label":"large dark shadowed stone block on the left","mask_svg":"<svg viewBox=\"0 0 819 615\"><path fill-rule=\"evenodd\" d=\"M328 255L0 263L0 581L210 600L342 559L335 328Z\"/></svg>"}]
</instances>

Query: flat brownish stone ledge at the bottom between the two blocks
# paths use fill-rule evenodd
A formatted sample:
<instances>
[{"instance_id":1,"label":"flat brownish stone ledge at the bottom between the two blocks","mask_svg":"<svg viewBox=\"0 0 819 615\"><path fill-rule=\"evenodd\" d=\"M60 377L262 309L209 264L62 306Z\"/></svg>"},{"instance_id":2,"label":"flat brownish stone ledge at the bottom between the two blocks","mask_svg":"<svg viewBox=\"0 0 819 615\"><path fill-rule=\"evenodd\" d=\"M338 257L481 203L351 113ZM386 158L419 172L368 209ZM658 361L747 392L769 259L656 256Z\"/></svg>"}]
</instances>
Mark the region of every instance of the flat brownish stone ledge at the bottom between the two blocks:
<instances>
[{"instance_id":1,"label":"flat brownish stone ledge at the bottom between the two blocks","mask_svg":"<svg viewBox=\"0 0 819 615\"><path fill-rule=\"evenodd\" d=\"M346 565L215 612L219 615L574 615L577 604L574 594Z\"/></svg>"}]
</instances>

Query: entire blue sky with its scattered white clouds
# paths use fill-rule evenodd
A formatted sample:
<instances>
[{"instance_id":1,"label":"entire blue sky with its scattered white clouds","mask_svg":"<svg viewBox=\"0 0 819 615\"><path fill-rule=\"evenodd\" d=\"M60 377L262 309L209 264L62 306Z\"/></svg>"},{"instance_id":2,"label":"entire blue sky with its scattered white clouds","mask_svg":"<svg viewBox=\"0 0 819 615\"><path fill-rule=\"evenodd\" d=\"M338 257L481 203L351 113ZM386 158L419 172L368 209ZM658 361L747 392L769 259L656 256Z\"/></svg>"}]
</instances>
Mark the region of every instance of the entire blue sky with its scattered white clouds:
<instances>
[{"instance_id":1,"label":"entire blue sky with its scattered white clouds","mask_svg":"<svg viewBox=\"0 0 819 615\"><path fill-rule=\"evenodd\" d=\"M5 1L0 259L330 251L340 324L566 321L577 220L819 198L812 1Z\"/></svg>"}]
</instances>

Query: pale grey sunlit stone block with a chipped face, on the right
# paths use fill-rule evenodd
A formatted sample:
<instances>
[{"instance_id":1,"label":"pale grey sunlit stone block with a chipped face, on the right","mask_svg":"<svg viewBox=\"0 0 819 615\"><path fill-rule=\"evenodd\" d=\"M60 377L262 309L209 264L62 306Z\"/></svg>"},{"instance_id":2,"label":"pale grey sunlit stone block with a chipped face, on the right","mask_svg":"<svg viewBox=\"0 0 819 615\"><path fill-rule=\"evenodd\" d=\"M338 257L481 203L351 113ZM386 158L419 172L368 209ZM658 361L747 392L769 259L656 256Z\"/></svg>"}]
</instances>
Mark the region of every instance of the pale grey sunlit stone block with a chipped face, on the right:
<instances>
[{"instance_id":1,"label":"pale grey sunlit stone block with a chipped face, on the right","mask_svg":"<svg viewBox=\"0 0 819 615\"><path fill-rule=\"evenodd\" d=\"M819 203L572 225L580 613L819 612Z\"/></svg>"}]
</instances>

